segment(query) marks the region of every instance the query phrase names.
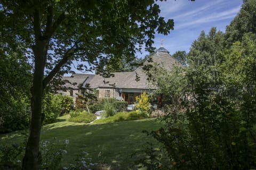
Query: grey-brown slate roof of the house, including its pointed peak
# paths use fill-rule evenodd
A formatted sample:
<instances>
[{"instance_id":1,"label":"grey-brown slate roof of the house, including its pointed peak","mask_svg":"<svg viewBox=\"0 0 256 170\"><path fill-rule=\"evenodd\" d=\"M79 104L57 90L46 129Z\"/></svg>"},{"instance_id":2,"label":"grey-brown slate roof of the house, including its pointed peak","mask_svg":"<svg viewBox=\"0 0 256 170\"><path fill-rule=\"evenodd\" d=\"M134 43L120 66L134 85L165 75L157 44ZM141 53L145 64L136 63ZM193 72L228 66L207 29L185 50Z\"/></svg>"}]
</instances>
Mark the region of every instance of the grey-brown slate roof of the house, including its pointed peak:
<instances>
[{"instance_id":1,"label":"grey-brown slate roof of the house, including its pointed peak","mask_svg":"<svg viewBox=\"0 0 256 170\"><path fill-rule=\"evenodd\" d=\"M156 52L150 56L153 62L160 64L161 67L171 70L174 65L182 66L177 60L169 54L164 47L158 48ZM144 64L151 64L151 62L146 61ZM142 70L142 67L138 67L132 72L113 72L114 77L104 78L100 75L91 74L73 74L71 77L64 77L64 79L69 80L72 84L67 84L67 87L78 88L78 85L86 87L89 84L89 88L133 88L133 89L154 89L147 80L146 73ZM139 81L137 81L137 77ZM74 85L73 85L74 84Z\"/></svg>"}]
</instances>

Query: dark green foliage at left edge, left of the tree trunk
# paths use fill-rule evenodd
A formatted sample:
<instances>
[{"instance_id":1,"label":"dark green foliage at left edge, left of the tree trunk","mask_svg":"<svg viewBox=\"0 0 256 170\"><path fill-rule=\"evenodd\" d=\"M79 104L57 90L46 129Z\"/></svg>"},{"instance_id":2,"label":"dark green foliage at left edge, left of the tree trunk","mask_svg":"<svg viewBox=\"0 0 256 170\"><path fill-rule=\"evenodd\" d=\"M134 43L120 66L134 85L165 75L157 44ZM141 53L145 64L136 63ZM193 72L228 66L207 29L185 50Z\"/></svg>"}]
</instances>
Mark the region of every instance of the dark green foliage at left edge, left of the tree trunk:
<instances>
[{"instance_id":1,"label":"dark green foliage at left edge, left of the tree trunk","mask_svg":"<svg viewBox=\"0 0 256 170\"><path fill-rule=\"evenodd\" d=\"M7 55L0 54L0 133L29 125L31 67L18 49Z\"/></svg>"}]
</instances>

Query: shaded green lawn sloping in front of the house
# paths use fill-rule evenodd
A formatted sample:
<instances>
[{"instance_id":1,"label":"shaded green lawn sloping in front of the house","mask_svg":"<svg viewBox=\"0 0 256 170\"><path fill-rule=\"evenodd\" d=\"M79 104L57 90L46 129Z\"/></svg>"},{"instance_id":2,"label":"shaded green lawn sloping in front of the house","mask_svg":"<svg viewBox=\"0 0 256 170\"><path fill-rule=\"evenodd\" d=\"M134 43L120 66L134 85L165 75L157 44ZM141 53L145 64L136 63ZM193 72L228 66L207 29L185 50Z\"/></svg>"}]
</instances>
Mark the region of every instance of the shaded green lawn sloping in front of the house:
<instances>
[{"instance_id":1,"label":"shaded green lawn sloping in front of the house","mask_svg":"<svg viewBox=\"0 0 256 170\"><path fill-rule=\"evenodd\" d=\"M158 129L161 123L155 119L131 120L105 124L83 124L66 122L66 117L61 117L61 122L45 125L42 129L41 139L51 141L69 140L67 153L63 157L63 164L74 163L79 153L86 151L92 162L102 161L111 165L111 169L127 169L134 162L131 155L145 148L147 141L155 142L151 137L142 133L143 130ZM24 137L21 132L9 133L0 136L0 144L21 142ZM102 156L98 158L99 152Z\"/></svg>"}]
</instances>

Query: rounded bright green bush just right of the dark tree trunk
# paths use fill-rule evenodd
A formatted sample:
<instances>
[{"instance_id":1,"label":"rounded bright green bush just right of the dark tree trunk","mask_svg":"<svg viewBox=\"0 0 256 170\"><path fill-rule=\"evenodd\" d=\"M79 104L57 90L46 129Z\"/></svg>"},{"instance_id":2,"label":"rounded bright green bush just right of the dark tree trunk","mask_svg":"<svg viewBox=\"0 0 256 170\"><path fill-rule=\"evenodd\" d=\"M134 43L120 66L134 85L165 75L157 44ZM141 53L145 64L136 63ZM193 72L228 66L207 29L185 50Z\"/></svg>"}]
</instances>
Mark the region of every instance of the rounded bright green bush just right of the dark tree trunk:
<instances>
[{"instance_id":1,"label":"rounded bright green bush just right of the dark tree trunk","mask_svg":"<svg viewBox=\"0 0 256 170\"><path fill-rule=\"evenodd\" d=\"M56 118L68 114L73 110L73 99L70 96L54 95L47 93L44 95L42 113L44 114L44 124L55 122Z\"/></svg>"}]
</instances>

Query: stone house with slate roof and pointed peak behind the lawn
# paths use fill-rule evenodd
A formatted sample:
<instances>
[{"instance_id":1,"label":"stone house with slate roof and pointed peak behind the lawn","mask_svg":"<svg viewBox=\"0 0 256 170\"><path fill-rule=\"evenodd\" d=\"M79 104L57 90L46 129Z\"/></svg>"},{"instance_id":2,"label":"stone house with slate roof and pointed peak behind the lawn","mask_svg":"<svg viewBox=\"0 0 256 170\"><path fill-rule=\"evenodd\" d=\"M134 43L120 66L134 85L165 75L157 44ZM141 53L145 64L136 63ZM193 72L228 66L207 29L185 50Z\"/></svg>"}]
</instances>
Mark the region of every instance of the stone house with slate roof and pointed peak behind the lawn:
<instances>
[{"instance_id":1,"label":"stone house with slate roof and pointed peak behind the lawn","mask_svg":"<svg viewBox=\"0 0 256 170\"><path fill-rule=\"evenodd\" d=\"M164 47L158 48L150 58L167 70L171 70L177 64L181 66ZM147 63L148 61L143 64ZM110 78L91 74L73 74L71 77L63 77L71 83L67 84L69 90L63 94L73 96L75 100L76 95L83 94L85 89L87 91L97 90L98 98L116 98L133 104L136 96L143 92L150 93L156 89L148 81L142 66L132 72L113 72L113 74L115 76ZM138 77L139 80L137 80ZM158 99L158 104L159 100L161 99Z\"/></svg>"}]
</instances>

